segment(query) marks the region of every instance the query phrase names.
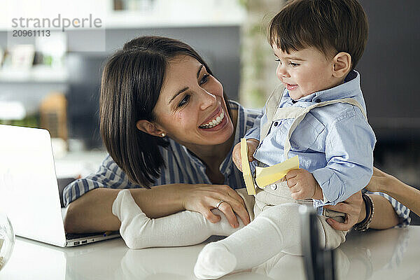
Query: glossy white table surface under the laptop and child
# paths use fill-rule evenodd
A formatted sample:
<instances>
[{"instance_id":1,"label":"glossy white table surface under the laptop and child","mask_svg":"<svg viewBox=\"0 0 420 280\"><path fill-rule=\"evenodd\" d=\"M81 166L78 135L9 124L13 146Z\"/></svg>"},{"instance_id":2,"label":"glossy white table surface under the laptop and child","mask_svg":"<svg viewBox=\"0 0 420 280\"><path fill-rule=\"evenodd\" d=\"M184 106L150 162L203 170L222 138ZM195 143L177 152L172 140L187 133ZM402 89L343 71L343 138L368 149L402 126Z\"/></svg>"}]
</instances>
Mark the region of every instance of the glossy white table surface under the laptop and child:
<instances>
[{"instance_id":1,"label":"glossy white table surface under the laptop and child","mask_svg":"<svg viewBox=\"0 0 420 280\"><path fill-rule=\"evenodd\" d=\"M1 280L195 279L204 244L130 250L122 239L58 248L18 237ZM337 251L338 279L420 279L420 226L351 232ZM302 257L276 255L223 279L304 279Z\"/></svg>"}]
</instances>

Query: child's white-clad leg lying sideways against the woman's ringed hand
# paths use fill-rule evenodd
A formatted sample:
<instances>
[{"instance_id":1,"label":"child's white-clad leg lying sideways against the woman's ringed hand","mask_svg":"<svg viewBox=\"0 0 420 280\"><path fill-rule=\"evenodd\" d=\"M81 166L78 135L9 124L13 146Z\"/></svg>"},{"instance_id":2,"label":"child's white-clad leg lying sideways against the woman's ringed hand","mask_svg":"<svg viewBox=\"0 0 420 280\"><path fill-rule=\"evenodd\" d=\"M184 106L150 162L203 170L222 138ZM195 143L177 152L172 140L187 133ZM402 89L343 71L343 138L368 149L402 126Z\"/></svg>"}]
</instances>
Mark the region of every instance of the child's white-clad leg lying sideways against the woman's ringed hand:
<instances>
[{"instance_id":1,"label":"child's white-clad leg lying sideways against the woman's ringed hand","mask_svg":"<svg viewBox=\"0 0 420 280\"><path fill-rule=\"evenodd\" d=\"M232 228L220 210L211 211L221 216L221 221L210 223L202 214L193 211L148 218L130 190L121 190L112 205L112 213L121 221L120 235L130 248L189 246L199 244L211 235L231 235L244 227L239 217L239 228Z\"/></svg>"}]
</instances>

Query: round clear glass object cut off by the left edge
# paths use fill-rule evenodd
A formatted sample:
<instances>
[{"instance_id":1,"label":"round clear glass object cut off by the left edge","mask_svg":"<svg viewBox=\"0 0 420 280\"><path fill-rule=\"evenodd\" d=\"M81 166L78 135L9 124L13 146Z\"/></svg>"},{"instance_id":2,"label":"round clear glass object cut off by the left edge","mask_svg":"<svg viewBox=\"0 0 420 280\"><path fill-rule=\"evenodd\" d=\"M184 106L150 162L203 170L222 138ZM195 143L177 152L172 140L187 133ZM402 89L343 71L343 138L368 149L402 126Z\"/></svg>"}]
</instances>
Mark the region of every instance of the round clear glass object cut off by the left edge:
<instances>
[{"instance_id":1,"label":"round clear glass object cut off by the left edge","mask_svg":"<svg viewBox=\"0 0 420 280\"><path fill-rule=\"evenodd\" d=\"M15 232L6 214L0 212L0 270L6 265L15 246Z\"/></svg>"}]
</instances>

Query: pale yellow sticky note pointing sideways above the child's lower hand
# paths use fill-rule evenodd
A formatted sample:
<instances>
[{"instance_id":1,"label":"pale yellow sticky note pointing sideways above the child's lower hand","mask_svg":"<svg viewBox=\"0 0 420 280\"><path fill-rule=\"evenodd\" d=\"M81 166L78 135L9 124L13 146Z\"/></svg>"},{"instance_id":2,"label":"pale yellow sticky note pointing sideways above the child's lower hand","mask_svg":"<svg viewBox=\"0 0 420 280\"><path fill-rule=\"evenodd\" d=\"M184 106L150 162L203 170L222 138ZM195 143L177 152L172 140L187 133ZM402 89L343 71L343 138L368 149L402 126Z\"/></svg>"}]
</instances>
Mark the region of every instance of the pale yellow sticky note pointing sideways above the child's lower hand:
<instances>
[{"instance_id":1,"label":"pale yellow sticky note pointing sideways above the child's lower hand","mask_svg":"<svg viewBox=\"0 0 420 280\"><path fill-rule=\"evenodd\" d=\"M244 165L243 161L242 165ZM275 181L279 181L286 176L287 172L293 169L299 169L299 158L297 158L297 155L277 165L255 167L255 182L257 182L258 186L265 187Z\"/></svg>"}]
</instances>

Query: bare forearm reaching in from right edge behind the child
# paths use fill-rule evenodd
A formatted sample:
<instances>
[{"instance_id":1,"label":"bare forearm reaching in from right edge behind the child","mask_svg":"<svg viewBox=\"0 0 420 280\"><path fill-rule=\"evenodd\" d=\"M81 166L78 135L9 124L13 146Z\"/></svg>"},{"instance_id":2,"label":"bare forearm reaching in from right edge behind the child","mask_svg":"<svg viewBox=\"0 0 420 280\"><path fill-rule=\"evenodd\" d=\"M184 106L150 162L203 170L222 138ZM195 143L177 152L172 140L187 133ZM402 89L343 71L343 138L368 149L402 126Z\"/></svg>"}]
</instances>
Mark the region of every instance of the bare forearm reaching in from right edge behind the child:
<instances>
[{"instance_id":1,"label":"bare forearm reaching in from right edge behind the child","mask_svg":"<svg viewBox=\"0 0 420 280\"><path fill-rule=\"evenodd\" d=\"M412 188L394 176L374 167L373 176L366 186L371 192L381 192L395 198L415 214L420 215L420 190Z\"/></svg>"}]
</instances>

